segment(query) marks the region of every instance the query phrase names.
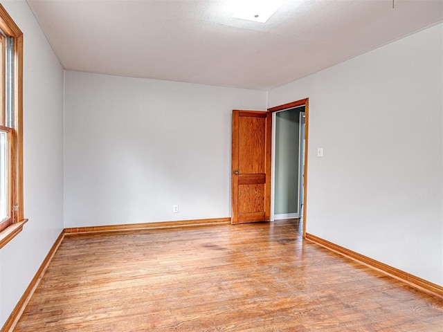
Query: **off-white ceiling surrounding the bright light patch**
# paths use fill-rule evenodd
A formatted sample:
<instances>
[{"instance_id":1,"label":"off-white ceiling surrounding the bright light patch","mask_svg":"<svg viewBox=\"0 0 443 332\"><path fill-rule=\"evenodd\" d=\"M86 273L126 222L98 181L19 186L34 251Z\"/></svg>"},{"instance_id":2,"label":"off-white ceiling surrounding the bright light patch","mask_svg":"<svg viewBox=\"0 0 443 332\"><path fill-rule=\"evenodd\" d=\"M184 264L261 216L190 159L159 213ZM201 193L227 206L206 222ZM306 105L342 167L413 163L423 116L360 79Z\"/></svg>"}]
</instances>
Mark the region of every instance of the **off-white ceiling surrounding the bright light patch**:
<instances>
[{"instance_id":1,"label":"off-white ceiling surrounding the bright light patch","mask_svg":"<svg viewBox=\"0 0 443 332\"><path fill-rule=\"evenodd\" d=\"M230 0L27 2L67 70L260 90L443 21L442 0L286 0L265 24Z\"/></svg>"}]
</instances>

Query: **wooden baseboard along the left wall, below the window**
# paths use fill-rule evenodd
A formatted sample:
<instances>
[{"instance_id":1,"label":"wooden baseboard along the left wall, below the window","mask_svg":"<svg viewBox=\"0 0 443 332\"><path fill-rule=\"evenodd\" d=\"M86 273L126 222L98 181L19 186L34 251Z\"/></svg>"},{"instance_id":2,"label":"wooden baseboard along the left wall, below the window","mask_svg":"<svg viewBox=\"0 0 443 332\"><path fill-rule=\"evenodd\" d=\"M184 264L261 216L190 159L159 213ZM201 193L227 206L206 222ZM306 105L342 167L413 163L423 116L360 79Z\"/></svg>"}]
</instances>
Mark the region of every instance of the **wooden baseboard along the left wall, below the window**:
<instances>
[{"instance_id":1,"label":"wooden baseboard along the left wall, below the window","mask_svg":"<svg viewBox=\"0 0 443 332\"><path fill-rule=\"evenodd\" d=\"M23 295L21 295L19 302L17 302L14 310L9 315L8 320L6 320L5 324L3 324L1 332L12 332L15 329L15 326L17 325L17 322L19 321L21 314L24 312L30 298L33 296L35 290L39 286L39 283L42 280L44 273L46 272L49 264L51 263L51 260L55 255L55 252L57 252L57 249L60 246L60 243L62 243L63 239L64 239L64 231L62 231L55 240L55 243L51 247L51 250L49 250L48 255L46 255L44 261L42 262L42 265L40 265L39 269L37 270L37 273L35 273L33 279L26 288L26 291L23 293Z\"/></svg>"}]
</instances>

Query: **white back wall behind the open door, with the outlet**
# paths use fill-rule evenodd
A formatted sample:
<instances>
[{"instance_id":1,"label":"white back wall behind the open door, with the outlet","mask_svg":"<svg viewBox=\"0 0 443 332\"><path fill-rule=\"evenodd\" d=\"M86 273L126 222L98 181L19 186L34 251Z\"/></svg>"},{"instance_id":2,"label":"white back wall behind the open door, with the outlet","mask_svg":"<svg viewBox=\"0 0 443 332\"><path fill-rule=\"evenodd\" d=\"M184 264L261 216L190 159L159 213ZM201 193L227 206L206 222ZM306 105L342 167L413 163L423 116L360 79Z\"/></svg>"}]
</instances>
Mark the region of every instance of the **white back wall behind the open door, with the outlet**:
<instances>
[{"instance_id":1,"label":"white back wall behind the open door, with the outlet","mask_svg":"<svg viewBox=\"0 0 443 332\"><path fill-rule=\"evenodd\" d=\"M266 92L67 71L65 107L65 227L220 218L231 112Z\"/></svg>"}]
</instances>

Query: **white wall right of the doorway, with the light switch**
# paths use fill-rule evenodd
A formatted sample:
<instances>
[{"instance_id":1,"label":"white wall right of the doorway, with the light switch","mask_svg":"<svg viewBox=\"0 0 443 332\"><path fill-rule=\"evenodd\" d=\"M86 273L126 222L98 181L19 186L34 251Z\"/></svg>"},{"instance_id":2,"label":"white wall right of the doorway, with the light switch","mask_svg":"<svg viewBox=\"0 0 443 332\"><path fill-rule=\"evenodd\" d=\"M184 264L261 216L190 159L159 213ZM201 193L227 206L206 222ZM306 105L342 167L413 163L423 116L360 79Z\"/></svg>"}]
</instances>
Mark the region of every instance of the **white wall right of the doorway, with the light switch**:
<instances>
[{"instance_id":1,"label":"white wall right of the doorway, with the light switch","mask_svg":"<svg viewBox=\"0 0 443 332\"><path fill-rule=\"evenodd\" d=\"M440 24L269 91L309 98L307 232L440 285L442 40Z\"/></svg>"}]
</instances>

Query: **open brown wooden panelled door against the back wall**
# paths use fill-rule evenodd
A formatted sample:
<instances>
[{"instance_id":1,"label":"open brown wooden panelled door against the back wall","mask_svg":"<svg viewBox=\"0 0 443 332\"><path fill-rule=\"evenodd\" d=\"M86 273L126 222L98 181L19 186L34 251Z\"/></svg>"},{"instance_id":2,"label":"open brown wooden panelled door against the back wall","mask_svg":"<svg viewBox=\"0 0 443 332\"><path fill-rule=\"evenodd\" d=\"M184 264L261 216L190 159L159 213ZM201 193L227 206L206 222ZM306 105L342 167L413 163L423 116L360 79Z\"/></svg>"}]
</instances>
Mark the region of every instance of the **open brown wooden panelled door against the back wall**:
<instances>
[{"instance_id":1,"label":"open brown wooden panelled door against the back wall","mask_svg":"<svg viewBox=\"0 0 443 332\"><path fill-rule=\"evenodd\" d=\"M269 221L271 113L233 111L232 223Z\"/></svg>"}]
</instances>

